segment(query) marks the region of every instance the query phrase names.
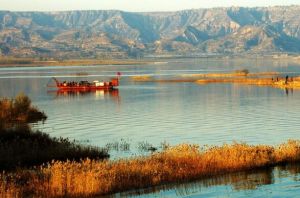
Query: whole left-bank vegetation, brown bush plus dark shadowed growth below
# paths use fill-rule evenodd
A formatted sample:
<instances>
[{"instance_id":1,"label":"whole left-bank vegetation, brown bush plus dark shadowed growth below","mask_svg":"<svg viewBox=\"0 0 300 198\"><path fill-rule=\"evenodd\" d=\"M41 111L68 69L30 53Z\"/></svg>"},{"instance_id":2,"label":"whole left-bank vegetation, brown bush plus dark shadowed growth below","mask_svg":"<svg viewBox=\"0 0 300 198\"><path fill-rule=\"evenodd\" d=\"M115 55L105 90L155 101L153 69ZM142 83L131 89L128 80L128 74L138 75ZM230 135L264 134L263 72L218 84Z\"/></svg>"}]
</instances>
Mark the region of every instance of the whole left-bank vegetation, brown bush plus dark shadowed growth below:
<instances>
[{"instance_id":1,"label":"whole left-bank vegetation, brown bush plus dark shadowed growth below","mask_svg":"<svg viewBox=\"0 0 300 198\"><path fill-rule=\"evenodd\" d=\"M0 169L41 165L52 160L104 159L105 149L83 146L67 138L33 131L30 123L44 121L44 112L32 106L24 94L0 100Z\"/></svg>"}]
</instances>

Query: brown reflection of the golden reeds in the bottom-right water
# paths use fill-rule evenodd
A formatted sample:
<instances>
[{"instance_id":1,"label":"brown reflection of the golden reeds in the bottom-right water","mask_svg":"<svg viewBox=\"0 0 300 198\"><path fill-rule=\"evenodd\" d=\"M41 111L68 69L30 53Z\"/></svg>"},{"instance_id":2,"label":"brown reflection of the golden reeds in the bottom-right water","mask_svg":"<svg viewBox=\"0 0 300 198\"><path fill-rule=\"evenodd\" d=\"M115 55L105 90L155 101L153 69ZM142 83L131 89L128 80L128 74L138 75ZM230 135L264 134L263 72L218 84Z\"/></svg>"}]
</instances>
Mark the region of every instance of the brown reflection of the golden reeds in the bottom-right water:
<instances>
[{"instance_id":1,"label":"brown reflection of the golden reeds in the bottom-right water","mask_svg":"<svg viewBox=\"0 0 300 198\"><path fill-rule=\"evenodd\" d=\"M226 175L214 176L207 179L200 179L193 182L180 184L167 184L153 188L135 190L125 193L119 193L114 197L132 197L132 196L162 196L162 197L187 197L204 195L208 188L217 186L229 186L233 193L239 193L247 190L255 192L263 186L275 186L275 183L282 178L293 178L298 182L300 173L300 164L289 164L285 166L269 167L255 171L245 171L231 173ZM289 184L290 185L290 184ZM273 187L274 188L274 187ZM228 193L228 192L227 192ZM218 194L220 195L220 194Z\"/></svg>"}]
</instances>

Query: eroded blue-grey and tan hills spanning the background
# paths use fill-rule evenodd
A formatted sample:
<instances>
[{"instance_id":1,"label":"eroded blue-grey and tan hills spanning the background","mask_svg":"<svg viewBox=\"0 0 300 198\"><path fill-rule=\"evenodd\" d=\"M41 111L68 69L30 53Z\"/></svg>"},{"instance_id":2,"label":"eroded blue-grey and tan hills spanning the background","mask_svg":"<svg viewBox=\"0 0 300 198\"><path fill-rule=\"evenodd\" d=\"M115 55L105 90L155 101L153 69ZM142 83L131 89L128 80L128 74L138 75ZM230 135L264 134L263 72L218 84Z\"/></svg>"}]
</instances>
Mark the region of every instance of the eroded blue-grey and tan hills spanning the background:
<instances>
[{"instance_id":1,"label":"eroded blue-grey and tan hills spanning the background","mask_svg":"<svg viewBox=\"0 0 300 198\"><path fill-rule=\"evenodd\" d=\"M0 54L107 58L299 53L300 6L178 12L0 11Z\"/></svg>"}]
</instances>

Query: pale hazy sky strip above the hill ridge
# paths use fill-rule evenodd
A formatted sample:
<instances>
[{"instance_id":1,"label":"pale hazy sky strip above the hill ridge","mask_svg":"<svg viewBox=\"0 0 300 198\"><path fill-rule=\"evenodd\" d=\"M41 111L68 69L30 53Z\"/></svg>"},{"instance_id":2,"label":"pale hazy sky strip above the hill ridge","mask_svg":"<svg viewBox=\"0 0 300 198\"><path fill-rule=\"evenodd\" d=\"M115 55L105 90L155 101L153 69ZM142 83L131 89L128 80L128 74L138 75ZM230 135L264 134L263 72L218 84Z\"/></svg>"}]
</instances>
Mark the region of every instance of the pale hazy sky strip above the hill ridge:
<instances>
[{"instance_id":1,"label":"pale hazy sky strip above the hill ridge","mask_svg":"<svg viewBox=\"0 0 300 198\"><path fill-rule=\"evenodd\" d=\"M144 12L273 5L300 5L300 0L0 0L0 10L12 11L116 9Z\"/></svg>"}]
</instances>

